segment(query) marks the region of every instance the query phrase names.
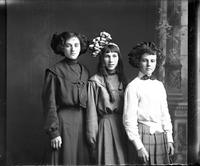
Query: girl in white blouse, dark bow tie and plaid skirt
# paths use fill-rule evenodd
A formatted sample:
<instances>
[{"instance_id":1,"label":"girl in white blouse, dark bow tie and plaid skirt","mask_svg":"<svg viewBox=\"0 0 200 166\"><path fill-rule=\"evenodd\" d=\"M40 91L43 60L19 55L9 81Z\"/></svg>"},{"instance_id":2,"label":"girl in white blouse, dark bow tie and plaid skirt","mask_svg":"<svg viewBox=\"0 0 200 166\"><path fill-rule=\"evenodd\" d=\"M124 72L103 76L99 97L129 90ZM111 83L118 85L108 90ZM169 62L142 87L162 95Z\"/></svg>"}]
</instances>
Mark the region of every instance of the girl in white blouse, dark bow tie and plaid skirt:
<instances>
[{"instance_id":1,"label":"girl in white blouse, dark bow tie and plaid skirt","mask_svg":"<svg viewBox=\"0 0 200 166\"><path fill-rule=\"evenodd\" d=\"M173 155L172 124L163 83L155 79L164 56L152 42L142 42L128 54L138 76L125 90L123 124L137 164L168 164ZM131 161L129 161L131 162Z\"/></svg>"}]
</instances>

